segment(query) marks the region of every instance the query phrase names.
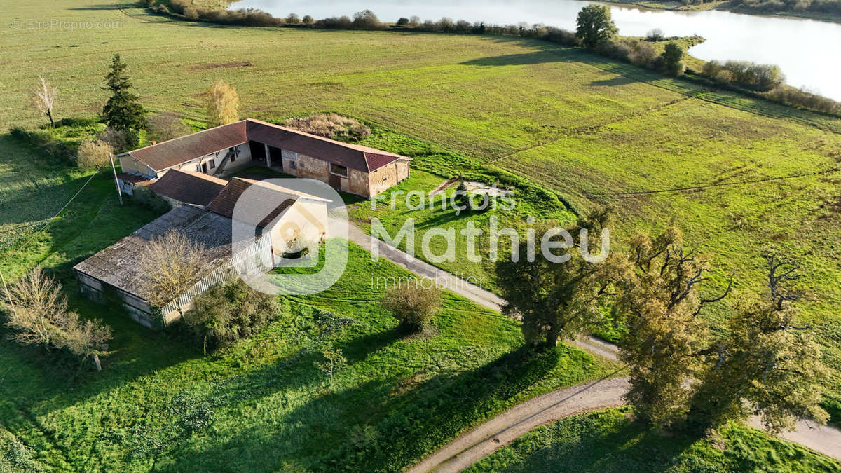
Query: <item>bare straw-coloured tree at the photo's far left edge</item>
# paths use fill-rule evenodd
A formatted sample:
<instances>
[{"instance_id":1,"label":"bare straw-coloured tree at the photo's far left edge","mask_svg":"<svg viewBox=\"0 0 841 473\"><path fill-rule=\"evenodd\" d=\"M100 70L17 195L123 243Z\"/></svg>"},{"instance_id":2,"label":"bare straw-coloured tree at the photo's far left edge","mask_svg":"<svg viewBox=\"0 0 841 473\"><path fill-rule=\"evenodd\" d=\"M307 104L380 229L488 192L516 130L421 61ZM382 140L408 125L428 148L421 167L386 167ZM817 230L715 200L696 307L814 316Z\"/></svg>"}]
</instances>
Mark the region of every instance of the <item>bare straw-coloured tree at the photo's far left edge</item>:
<instances>
[{"instance_id":1,"label":"bare straw-coloured tree at the photo's far left edge","mask_svg":"<svg viewBox=\"0 0 841 473\"><path fill-rule=\"evenodd\" d=\"M34 268L6 291L4 299L9 312L6 327L14 330L13 340L43 347L61 344L67 316L61 284Z\"/></svg>"}]
</instances>

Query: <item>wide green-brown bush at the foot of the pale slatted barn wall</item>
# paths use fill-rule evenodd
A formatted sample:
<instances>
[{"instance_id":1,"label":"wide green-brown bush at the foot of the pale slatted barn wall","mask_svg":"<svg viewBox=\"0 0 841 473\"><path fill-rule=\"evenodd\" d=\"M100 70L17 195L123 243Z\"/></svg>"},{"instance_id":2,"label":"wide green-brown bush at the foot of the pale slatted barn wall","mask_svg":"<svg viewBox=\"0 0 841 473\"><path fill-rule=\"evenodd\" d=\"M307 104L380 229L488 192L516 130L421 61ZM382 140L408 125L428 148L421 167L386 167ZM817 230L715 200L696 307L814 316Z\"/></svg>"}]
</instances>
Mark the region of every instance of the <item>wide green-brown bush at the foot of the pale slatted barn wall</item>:
<instances>
[{"instance_id":1,"label":"wide green-brown bush at the foot of the pale slatted barn wall","mask_svg":"<svg viewBox=\"0 0 841 473\"><path fill-rule=\"evenodd\" d=\"M280 316L277 296L251 289L234 277L193 300L183 323L204 353L251 337Z\"/></svg>"}]
</instances>

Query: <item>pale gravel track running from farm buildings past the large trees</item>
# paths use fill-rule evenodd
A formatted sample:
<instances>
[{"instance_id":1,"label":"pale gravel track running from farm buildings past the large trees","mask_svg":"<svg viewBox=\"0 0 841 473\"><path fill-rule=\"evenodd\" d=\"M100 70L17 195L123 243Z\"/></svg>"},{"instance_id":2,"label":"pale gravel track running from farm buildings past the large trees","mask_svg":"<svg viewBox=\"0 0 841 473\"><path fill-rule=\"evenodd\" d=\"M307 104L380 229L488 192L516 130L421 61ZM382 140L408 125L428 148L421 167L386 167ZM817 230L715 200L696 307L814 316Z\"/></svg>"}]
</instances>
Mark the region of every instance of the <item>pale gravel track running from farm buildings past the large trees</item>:
<instances>
[{"instance_id":1,"label":"pale gravel track running from farm buildings past the large trees","mask_svg":"<svg viewBox=\"0 0 841 473\"><path fill-rule=\"evenodd\" d=\"M483 290L475 284L469 284L441 268L436 268L417 258L410 259L408 254L385 242L372 241L372 237L357 226L350 226L348 238L368 250L376 245L381 258L388 259L422 277L436 279L448 290L473 300L481 306L500 311L505 303L500 296ZM580 337L573 343L579 348L608 359L615 360L618 352L616 345L595 337ZM512 407L488 423L463 434L452 444L415 465L410 471L463 470L496 449L510 444L523 433L545 423L580 412L621 406L625 403L622 399L625 391L627 391L627 378L616 378L576 385L536 397ZM764 429L756 418L750 419L748 425ZM794 430L780 433L780 437L841 460L841 430L838 428L817 426L815 423L801 421L797 423Z\"/></svg>"}]
</instances>

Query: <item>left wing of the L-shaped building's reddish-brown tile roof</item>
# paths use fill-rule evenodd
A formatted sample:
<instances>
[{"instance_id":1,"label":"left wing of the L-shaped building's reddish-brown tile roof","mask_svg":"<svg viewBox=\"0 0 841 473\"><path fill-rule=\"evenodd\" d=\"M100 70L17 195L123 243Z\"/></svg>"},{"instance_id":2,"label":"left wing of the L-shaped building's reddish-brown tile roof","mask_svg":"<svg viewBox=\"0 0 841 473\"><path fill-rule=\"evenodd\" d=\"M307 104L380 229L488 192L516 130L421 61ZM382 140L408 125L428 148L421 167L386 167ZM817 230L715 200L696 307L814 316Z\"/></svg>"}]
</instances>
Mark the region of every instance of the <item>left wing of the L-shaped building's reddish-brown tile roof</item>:
<instances>
[{"instance_id":1,"label":"left wing of the L-shaped building's reddish-brown tile roof","mask_svg":"<svg viewBox=\"0 0 841 473\"><path fill-rule=\"evenodd\" d=\"M241 120L129 151L129 154L155 171L162 171L197 157L225 151L246 141L246 122Z\"/></svg>"}]
</instances>

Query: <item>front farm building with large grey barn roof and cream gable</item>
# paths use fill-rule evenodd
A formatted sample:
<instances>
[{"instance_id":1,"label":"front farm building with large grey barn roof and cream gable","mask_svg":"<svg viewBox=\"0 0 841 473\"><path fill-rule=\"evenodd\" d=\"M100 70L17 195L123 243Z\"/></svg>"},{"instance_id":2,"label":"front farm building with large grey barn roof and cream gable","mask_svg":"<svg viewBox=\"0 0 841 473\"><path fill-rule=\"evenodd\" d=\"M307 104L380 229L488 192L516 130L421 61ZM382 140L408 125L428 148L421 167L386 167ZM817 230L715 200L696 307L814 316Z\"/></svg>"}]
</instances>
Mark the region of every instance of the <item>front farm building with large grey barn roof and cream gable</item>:
<instances>
[{"instance_id":1,"label":"front farm building with large grey barn roof and cream gable","mask_svg":"<svg viewBox=\"0 0 841 473\"><path fill-rule=\"evenodd\" d=\"M328 199L251 179L225 183L193 174L198 173L170 170L158 179L153 184L159 186L156 192L178 205L74 267L83 294L98 302L116 300L135 322L161 329L177 320L178 306L188 309L194 297L224 281L231 268L242 271L243 265L255 263L272 268L296 244L328 237L324 224ZM177 183L193 185L178 188ZM246 191L251 205L247 211L235 212L237 200ZM251 226L254 231L250 237L235 237L237 225ZM143 273L142 262L151 240L167 231L188 237L203 252L205 264L192 288L165 307L153 307L144 296L149 275Z\"/></svg>"}]
</instances>

